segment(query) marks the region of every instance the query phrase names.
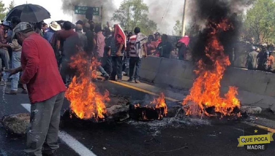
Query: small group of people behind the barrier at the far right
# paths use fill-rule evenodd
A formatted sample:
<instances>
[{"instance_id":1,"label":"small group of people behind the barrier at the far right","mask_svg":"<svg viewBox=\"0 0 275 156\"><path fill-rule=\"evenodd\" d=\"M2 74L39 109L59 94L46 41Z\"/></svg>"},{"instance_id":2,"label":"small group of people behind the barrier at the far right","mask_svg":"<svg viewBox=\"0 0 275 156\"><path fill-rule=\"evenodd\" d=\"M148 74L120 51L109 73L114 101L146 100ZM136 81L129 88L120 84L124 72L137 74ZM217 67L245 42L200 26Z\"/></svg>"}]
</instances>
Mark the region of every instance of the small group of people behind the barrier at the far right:
<instances>
[{"instance_id":1,"label":"small group of people behind the barrier at the far right","mask_svg":"<svg viewBox=\"0 0 275 156\"><path fill-rule=\"evenodd\" d=\"M261 45L261 50L253 46L251 52L248 53L246 60L246 68L249 70L271 71L273 69L274 57L273 52L268 51L267 44Z\"/></svg>"}]
</instances>

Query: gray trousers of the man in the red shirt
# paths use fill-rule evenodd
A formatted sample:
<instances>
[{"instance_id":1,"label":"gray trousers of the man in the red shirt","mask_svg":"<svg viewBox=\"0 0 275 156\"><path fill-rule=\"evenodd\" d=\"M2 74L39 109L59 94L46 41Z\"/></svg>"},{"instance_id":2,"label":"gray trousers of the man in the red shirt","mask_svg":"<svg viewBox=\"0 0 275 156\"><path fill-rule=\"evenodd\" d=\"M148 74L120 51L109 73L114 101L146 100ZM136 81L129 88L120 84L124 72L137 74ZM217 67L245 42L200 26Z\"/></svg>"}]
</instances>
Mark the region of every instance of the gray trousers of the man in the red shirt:
<instances>
[{"instance_id":1,"label":"gray trousers of the man in the red shirt","mask_svg":"<svg viewBox=\"0 0 275 156\"><path fill-rule=\"evenodd\" d=\"M59 148L57 139L63 100L64 92L61 92L50 99L31 104L27 147L24 150L28 155L42 156L42 150L45 154L53 154Z\"/></svg>"}]
</instances>

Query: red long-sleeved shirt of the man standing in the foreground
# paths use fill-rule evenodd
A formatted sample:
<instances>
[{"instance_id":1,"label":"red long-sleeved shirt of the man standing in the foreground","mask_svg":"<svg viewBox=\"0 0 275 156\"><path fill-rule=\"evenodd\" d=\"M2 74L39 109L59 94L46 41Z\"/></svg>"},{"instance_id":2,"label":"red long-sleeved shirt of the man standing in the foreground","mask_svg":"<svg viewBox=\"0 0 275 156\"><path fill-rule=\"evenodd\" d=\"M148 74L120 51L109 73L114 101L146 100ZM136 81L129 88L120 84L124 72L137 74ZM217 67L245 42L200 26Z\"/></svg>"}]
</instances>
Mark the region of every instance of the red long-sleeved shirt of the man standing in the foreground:
<instances>
[{"instance_id":1,"label":"red long-sleeved shirt of the man standing in the foreground","mask_svg":"<svg viewBox=\"0 0 275 156\"><path fill-rule=\"evenodd\" d=\"M39 34L33 33L23 41L21 64L21 81L27 85L32 104L45 101L66 90L53 48Z\"/></svg>"}]
</instances>

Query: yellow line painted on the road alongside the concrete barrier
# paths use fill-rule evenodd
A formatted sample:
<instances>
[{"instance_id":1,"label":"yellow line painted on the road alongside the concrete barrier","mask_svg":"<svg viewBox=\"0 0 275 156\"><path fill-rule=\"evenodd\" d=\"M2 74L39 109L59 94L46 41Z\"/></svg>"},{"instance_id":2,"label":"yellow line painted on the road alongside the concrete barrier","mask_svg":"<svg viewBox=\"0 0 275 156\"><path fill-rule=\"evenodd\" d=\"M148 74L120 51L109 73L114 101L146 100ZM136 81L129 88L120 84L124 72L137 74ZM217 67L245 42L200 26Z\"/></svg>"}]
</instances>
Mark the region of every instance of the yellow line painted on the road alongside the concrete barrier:
<instances>
[{"instance_id":1,"label":"yellow line painted on the road alongside the concrete barrier","mask_svg":"<svg viewBox=\"0 0 275 156\"><path fill-rule=\"evenodd\" d=\"M154 95L154 96L159 96L157 93L150 92L150 91L145 90L145 89L134 87L134 86L131 86L131 85L128 85L128 84L124 84L124 83L121 83L121 82L116 82L116 81L111 81L111 80L109 80L109 81L112 82L112 83L114 83L114 84L122 85L124 87L131 88L131 89L134 89L134 90L138 90L140 92L148 93L148 94L151 94L151 95ZM178 101L177 99L173 99L173 98L169 98L169 97L165 97L165 99L170 100L170 101L174 101L174 102ZM252 123L252 122L242 122L242 123L246 123L246 124L251 125L251 126L257 125L260 128L267 128L268 131L275 133L275 129L270 128L270 127L265 127L263 125L255 124L255 123Z\"/></svg>"}]
</instances>

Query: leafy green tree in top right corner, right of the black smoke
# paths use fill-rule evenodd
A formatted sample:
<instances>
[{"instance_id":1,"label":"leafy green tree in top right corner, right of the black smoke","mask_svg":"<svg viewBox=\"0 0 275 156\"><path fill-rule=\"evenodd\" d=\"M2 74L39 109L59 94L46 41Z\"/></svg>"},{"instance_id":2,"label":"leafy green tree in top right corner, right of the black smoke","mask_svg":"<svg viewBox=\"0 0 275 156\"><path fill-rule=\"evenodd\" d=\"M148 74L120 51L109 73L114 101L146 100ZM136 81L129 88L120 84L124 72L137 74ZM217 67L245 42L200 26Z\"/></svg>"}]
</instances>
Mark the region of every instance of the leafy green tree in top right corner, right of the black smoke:
<instances>
[{"instance_id":1,"label":"leafy green tree in top right corner, right of the black smoke","mask_svg":"<svg viewBox=\"0 0 275 156\"><path fill-rule=\"evenodd\" d=\"M242 38L244 41L255 44L275 42L274 0L257 0L248 10Z\"/></svg>"}]
</instances>

